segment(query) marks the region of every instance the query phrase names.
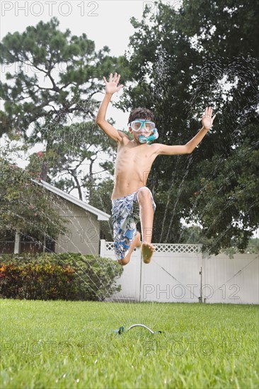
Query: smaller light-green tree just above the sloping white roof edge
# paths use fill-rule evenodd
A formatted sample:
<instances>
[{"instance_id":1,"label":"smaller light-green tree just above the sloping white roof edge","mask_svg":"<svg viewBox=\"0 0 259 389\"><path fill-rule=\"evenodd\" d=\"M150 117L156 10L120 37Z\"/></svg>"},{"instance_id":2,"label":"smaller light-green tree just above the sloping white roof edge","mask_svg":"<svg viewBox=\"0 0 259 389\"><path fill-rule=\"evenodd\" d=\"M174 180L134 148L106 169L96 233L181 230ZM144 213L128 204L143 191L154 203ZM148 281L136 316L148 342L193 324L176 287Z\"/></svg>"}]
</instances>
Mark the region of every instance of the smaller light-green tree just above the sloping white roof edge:
<instances>
[{"instance_id":1,"label":"smaller light-green tree just above the sloping white roof edge","mask_svg":"<svg viewBox=\"0 0 259 389\"><path fill-rule=\"evenodd\" d=\"M54 183L67 193L76 189L79 199L87 199L92 203L93 190L103 179L103 174L106 173L110 177L113 173L110 161L99 162L100 170L97 172L94 163L102 153L105 153L106 158L112 159L115 145L103 137L93 121L59 126L55 129L52 139L48 153L40 153L40 167L39 153L35 153L35 156L30 157L28 170L31 173L40 170L42 180Z\"/></svg>"}]
</instances>

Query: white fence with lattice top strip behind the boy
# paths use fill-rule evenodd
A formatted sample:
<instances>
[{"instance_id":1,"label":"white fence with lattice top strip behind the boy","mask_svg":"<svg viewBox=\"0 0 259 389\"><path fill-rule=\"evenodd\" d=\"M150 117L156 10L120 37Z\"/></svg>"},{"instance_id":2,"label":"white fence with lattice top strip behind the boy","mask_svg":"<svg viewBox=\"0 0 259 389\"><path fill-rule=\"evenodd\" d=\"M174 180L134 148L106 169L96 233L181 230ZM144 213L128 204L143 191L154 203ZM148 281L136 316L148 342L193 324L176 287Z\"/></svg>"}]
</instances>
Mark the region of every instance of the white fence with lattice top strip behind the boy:
<instances>
[{"instance_id":1,"label":"white fence with lattice top strip behind the boy","mask_svg":"<svg viewBox=\"0 0 259 389\"><path fill-rule=\"evenodd\" d=\"M149 265L135 249L123 267L113 301L259 303L258 254L202 256L199 245L154 244ZM115 260L113 242L100 241L100 256Z\"/></svg>"}]
</instances>

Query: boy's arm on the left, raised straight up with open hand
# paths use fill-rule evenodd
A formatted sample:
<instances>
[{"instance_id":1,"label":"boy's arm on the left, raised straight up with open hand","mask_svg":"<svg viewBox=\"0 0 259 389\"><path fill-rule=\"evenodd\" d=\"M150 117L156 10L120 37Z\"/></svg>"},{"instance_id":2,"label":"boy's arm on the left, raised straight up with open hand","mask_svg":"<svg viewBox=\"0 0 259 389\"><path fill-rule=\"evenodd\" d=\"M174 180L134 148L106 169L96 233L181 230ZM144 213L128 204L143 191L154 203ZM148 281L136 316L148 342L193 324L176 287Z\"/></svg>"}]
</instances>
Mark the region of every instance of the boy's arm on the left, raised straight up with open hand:
<instances>
[{"instance_id":1,"label":"boy's arm on the left, raised straight up with open hand","mask_svg":"<svg viewBox=\"0 0 259 389\"><path fill-rule=\"evenodd\" d=\"M117 131L115 127L108 123L107 120L105 120L105 116L113 93L120 91L123 85L117 86L120 81L120 74L117 75L117 73L115 73L114 77L112 73L110 74L109 82L106 81L105 77L103 77L103 80L105 81L105 97L103 98L103 102L100 104L100 108L97 112L96 124L98 124L100 129L102 129L108 137L116 142L119 142L122 140L124 134Z\"/></svg>"}]
</instances>

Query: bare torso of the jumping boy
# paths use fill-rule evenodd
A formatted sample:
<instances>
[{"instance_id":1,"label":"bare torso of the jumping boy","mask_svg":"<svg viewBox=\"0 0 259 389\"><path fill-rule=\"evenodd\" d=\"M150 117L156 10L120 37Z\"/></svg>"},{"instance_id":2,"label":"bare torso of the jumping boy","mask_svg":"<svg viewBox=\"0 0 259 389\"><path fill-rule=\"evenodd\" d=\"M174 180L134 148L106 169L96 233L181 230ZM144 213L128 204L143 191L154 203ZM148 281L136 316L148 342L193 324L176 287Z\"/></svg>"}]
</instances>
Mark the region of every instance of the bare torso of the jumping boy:
<instances>
[{"instance_id":1,"label":"bare torso of the jumping boy","mask_svg":"<svg viewBox=\"0 0 259 389\"><path fill-rule=\"evenodd\" d=\"M156 144L137 144L124 137L117 146L112 199L125 197L146 185L157 156Z\"/></svg>"}]
</instances>

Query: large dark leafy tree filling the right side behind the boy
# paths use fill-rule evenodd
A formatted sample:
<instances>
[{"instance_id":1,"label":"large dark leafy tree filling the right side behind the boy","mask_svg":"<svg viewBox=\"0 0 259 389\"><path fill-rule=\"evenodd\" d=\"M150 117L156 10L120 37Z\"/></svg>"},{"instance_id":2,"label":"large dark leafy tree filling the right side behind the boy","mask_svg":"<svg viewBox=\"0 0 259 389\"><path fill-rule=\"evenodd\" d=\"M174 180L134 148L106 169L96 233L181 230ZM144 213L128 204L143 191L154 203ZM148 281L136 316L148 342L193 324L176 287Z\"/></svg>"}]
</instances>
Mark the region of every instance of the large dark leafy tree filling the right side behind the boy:
<instances>
[{"instance_id":1,"label":"large dark leafy tree filling the right side behind the boy","mask_svg":"<svg viewBox=\"0 0 259 389\"><path fill-rule=\"evenodd\" d=\"M132 18L127 57L137 85L117 106L153 110L165 144L191 139L205 106L218 111L190 156L156 158L154 241L181 242L181 219L199 221L204 248L217 254L233 239L244 248L258 228L256 10L258 1L183 1L178 11L156 2L156 13L146 6L142 21Z\"/></svg>"}]
</instances>

